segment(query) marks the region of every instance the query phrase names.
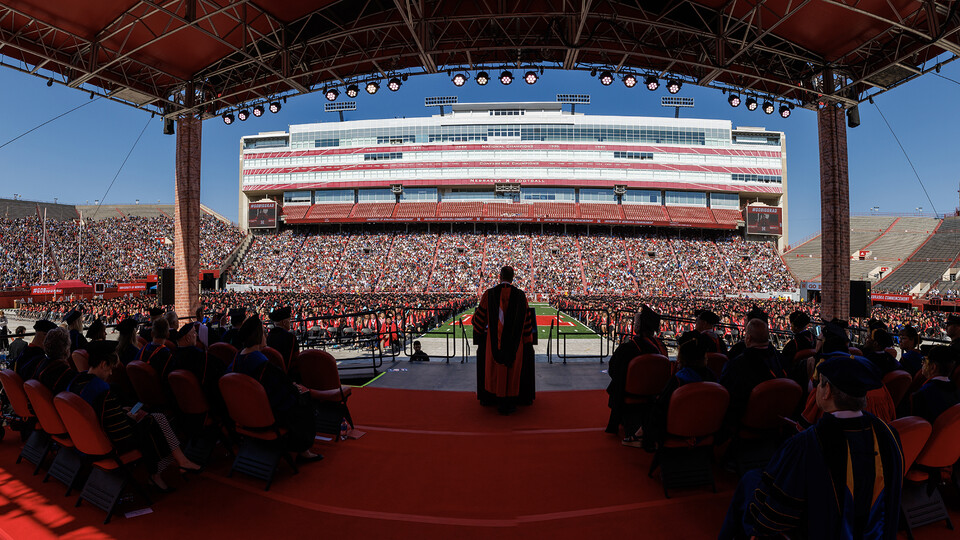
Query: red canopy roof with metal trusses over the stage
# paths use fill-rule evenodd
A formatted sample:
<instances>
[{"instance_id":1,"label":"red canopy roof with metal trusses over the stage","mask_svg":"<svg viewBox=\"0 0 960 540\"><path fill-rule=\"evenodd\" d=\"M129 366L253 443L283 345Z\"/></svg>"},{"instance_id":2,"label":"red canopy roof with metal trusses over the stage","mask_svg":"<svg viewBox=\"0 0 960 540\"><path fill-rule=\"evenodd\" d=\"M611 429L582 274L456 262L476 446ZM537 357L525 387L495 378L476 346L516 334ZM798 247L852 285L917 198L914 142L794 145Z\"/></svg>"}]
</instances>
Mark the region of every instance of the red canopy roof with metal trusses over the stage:
<instances>
[{"instance_id":1,"label":"red canopy roof with metal trusses over the stage","mask_svg":"<svg viewBox=\"0 0 960 540\"><path fill-rule=\"evenodd\" d=\"M932 0L0 0L0 62L204 117L371 78L562 68L847 106L960 54ZM839 75L819 87L826 68ZM197 99L185 100L187 88ZM193 107L184 102L194 101Z\"/></svg>"}]
</instances>

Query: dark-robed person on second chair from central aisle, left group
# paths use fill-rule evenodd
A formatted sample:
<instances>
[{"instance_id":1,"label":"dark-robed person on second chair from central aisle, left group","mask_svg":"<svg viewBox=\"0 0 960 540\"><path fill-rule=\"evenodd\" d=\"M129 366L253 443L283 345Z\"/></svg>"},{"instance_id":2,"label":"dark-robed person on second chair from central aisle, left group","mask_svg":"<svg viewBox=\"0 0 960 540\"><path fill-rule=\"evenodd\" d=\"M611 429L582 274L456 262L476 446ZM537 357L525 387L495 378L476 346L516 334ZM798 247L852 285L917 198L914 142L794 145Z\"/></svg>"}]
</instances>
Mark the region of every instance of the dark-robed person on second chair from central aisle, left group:
<instances>
[{"instance_id":1,"label":"dark-robed person on second chair from central aisle, left group","mask_svg":"<svg viewBox=\"0 0 960 540\"><path fill-rule=\"evenodd\" d=\"M263 386L277 424L287 429L281 441L288 451L299 452L300 458L307 461L323 459L322 455L310 451L317 435L314 406L301 397L306 389L294 384L286 373L264 356L262 351L267 338L258 315L243 322L237 329L237 339L243 348L226 373L249 375Z\"/></svg>"}]
</instances>

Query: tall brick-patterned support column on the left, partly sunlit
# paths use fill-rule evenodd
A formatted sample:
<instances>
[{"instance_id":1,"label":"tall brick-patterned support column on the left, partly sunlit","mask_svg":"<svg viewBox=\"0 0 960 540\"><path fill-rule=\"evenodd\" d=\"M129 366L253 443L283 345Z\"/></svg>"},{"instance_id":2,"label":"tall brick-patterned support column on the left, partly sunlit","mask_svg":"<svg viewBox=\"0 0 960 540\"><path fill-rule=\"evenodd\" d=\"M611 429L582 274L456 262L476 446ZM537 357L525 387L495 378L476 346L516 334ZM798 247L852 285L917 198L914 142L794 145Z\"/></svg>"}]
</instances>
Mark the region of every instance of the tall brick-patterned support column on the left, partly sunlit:
<instances>
[{"instance_id":1,"label":"tall brick-patterned support column on the left, partly sunlit","mask_svg":"<svg viewBox=\"0 0 960 540\"><path fill-rule=\"evenodd\" d=\"M200 305L200 135L195 115L177 120L173 268L174 306L181 317L192 317Z\"/></svg>"}]
</instances>

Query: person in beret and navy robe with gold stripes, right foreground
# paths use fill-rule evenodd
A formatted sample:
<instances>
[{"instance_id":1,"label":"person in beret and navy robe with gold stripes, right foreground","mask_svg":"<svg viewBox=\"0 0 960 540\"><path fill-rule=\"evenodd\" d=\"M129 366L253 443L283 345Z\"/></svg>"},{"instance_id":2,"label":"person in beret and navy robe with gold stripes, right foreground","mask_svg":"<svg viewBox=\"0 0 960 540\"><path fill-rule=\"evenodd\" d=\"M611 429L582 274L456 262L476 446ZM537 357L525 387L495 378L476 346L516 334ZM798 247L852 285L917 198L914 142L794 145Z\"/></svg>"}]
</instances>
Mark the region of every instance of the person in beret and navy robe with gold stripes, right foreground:
<instances>
[{"instance_id":1,"label":"person in beret and navy robe with gold stripes, right foreground","mask_svg":"<svg viewBox=\"0 0 960 540\"><path fill-rule=\"evenodd\" d=\"M823 417L740 479L720 532L736 538L897 537L903 455L897 434L863 412L880 373L856 356L819 366Z\"/></svg>"}]
</instances>

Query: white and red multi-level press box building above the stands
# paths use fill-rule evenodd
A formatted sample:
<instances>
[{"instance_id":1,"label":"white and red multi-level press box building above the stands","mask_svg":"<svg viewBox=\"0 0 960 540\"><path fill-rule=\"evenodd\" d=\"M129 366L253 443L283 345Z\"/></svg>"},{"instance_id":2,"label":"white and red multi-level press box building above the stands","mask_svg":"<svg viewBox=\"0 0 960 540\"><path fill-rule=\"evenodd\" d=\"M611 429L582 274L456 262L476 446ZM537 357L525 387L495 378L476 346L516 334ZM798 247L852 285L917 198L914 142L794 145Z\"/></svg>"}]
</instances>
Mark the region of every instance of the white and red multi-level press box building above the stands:
<instances>
[{"instance_id":1,"label":"white and red multi-level press box building above the stands","mask_svg":"<svg viewBox=\"0 0 960 540\"><path fill-rule=\"evenodd\" d=\"M243 137L240 223L577 223L786 242L781 132L552 102L450 107Z\"/></svg>"}]
</instances>

